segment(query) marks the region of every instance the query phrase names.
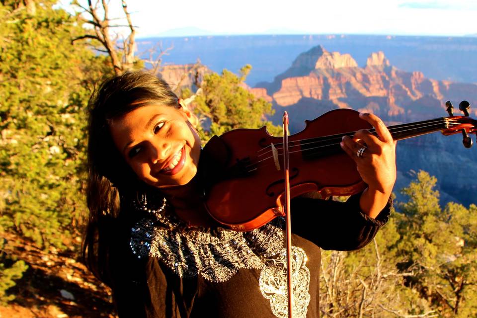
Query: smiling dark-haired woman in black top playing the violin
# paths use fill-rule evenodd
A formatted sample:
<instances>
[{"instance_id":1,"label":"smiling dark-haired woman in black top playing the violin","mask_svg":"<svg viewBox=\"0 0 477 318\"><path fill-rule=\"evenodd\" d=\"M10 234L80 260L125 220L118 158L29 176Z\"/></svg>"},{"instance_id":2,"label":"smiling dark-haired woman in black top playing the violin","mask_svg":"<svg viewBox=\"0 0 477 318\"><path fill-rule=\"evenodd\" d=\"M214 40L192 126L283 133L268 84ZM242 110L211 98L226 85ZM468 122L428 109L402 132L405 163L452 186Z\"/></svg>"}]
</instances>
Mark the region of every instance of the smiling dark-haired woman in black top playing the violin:
<instances>
[{"instance_id":1,"label":"smiling dark-haired woman in black top playing the violin","mask_svg":"<svg viewBox=\"0 0 477 318\"><path fill-rule=\"evenodd\" d=\"M319 314L319 247L361 248L389 217L395 144L378 117L360 116L379 138L362 130L341 147L368 188L344 203L292 200L297 318ZM100 87L90 109L85 262L111 286L120 317L286 317L284 222L251 232L214 223L202 204L197 124L148 73Z\"/></svg>"}]
</instances>

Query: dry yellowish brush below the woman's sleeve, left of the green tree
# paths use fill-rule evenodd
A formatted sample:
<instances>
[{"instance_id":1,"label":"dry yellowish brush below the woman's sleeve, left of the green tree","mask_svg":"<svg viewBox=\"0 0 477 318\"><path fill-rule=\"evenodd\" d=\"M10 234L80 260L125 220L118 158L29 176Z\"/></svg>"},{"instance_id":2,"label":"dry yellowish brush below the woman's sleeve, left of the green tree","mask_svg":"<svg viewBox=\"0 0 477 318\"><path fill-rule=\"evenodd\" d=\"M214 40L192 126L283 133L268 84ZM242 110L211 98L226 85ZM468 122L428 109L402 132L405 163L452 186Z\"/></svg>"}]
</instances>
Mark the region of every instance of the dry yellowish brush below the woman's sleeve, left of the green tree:
<instances>
[{"instance_id":1,"label":"dry yellowish brush below the woman's sleeve, left of the green tree","mask_svg":"<svg viewBox=\"0 0 477 318\"><path fill-rule=\"evenodd\" d=\"M358 251L322 251L320 317L435 317L428 304L403 284L412 272L396 267L399 239L396 220L391 218Z\"/></svg>"}]
</instances>

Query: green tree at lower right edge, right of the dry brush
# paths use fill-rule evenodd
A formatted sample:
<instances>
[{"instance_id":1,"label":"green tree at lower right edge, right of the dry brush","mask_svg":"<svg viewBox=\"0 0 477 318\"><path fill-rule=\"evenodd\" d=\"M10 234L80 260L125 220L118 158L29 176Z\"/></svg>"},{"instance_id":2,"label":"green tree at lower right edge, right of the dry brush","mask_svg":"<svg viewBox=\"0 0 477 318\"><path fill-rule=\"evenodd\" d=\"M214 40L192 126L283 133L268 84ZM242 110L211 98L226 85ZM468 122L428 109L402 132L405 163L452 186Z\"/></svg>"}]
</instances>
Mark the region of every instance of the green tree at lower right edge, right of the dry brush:
<instances>
[{"instance_id":1,"label":"green tree at lower right edge, right of the dry brush","mask_svg":"<svg viewBox=\"0 0 477 318\"><path fill-rule=\"evenodd\" d=\"M402 190L398 243L401 270L413 271L406 285L442 317L477 316L477 207L439 206L436 178L419 171Z\"/></svg>"}]
</instances>

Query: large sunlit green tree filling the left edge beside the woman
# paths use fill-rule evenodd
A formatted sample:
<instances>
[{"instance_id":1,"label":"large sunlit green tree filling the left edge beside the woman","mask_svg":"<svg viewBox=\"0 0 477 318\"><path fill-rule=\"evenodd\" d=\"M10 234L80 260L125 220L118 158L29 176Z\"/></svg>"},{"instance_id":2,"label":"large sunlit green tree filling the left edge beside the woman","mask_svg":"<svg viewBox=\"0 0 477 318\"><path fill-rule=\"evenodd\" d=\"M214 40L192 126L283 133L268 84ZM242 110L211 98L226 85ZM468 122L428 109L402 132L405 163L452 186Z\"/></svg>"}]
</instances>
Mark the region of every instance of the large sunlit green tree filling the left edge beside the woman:
<instances>
[{"instance_id":1,"label":"large sunlit green tree filling the left edge beside the woman","mask_svg":"<svg viewBox=\"0 0 477 318\"><path fill-rule=\"evenodd\" d=\"M112 68L87 43L72 45L81 23L54 3L0 1L0 229L75 249L86 209L84 109ZM11 245L2 243L0 289L25 269L14 263L6 274Z\"/></svg>"}]
</instances>

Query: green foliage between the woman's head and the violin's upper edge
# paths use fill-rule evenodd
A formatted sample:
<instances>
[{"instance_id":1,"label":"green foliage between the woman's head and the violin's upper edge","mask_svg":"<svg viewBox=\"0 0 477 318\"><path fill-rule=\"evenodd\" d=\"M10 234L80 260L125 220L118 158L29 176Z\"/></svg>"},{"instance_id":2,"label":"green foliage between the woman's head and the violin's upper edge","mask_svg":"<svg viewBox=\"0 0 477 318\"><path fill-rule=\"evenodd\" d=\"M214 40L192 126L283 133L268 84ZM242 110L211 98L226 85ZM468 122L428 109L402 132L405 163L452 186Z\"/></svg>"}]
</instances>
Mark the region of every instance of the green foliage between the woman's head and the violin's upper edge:
<instances>
[{"instance_id":1,"label":"green foliage between the woman's head and the violin's upper edge","mask_svg":"<svg viewBox=\"0 0 477 318\"><path fill-rule=\"evenodd\" d=\"M273 114L272 105L263 98L256 98L243 83L251 70L250 65L240 69L240 76L224 70L222 75L205 75L201 84L202 93L194 100L195 112L201 120L199 134L207 142L214 135L237 128L261 128L267 126L269 133L278 135L282 129L266 119ZM184 91L182 97L188 97Z\"/></svg>"}]
</instances>

